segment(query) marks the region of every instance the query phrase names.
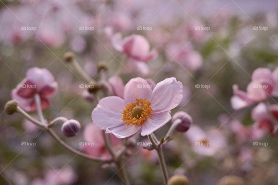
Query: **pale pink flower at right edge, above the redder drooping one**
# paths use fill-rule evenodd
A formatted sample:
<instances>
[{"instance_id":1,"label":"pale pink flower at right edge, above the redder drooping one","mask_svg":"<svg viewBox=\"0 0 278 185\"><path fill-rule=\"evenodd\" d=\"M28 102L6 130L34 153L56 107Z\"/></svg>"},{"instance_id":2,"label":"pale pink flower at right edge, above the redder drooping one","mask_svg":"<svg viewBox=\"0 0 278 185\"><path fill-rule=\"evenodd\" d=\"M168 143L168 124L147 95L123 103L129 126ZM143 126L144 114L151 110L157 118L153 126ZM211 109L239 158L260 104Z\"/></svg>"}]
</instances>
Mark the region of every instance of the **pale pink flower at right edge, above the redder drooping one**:
<instances>
[{"instance_id":1,"label":"pale pink flower at right edge, above the redder drooping one","mask_svg":"<svg viewBox=\"0 0 278 185\"><path fill-rule=\"evenodd\" d=\"M268 68L257 68L252 74L252 81L246 92L233 85L231 106L233 109L242 109L256 102L266 100L269 96L278 97L278 68L272 73Z\"/></svg>"}]
</instances>

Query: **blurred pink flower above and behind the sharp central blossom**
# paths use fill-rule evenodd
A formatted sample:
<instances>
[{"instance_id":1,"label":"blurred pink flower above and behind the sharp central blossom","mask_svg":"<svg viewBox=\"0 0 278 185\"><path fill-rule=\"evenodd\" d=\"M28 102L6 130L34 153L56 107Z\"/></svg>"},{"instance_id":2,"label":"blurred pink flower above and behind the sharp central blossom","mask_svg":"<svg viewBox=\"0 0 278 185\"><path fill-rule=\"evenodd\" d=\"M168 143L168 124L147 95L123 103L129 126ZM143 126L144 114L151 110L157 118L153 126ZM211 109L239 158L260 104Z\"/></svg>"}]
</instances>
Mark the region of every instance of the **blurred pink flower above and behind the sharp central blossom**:
<instances>
[{"instance_id":1,"label":"blurred pink flower above and behind the sharp central blossom","mask_svg":"<svg viewBox=\"0 0 278 185\"><path fill-rule=\"evenodd\" d=\"M135 66L142 74L149 73L146 63L156 59L158 51L156 49L150 51L150 44L144 36L133 34L122 39L122 35L120 33L114 34L110 27L106 28L105 32L110 38L113 47L129 57L127 66L130 69Z\"/></svg>"}]
</instances>

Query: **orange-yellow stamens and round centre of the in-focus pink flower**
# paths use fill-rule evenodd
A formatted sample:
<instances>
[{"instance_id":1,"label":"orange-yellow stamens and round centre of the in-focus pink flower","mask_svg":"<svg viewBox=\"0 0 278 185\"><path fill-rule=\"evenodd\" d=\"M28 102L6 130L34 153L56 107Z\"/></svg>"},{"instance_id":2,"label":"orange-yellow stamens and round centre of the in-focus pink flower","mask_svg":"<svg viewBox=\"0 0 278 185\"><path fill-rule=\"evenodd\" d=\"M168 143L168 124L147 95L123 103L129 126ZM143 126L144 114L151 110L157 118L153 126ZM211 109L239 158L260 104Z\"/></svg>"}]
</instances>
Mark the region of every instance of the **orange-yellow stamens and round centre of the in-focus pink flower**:
<instances>
[{"instance_id":1,"label":"orange-yellow stamens and round centre of the in-focus pink flower","mask_svg":"<svg viewBox=\"0 0 278 185\"><path fill-rule=\"evenodd\" d=\"M125 108L122 111L122 120L126 122L127 126L141 125L148 117L153 119L151 117L153 109L151 108L151 102L147 101L147 98L136 98L136 102L128 103Z\"/></svg>"}]
</instances>

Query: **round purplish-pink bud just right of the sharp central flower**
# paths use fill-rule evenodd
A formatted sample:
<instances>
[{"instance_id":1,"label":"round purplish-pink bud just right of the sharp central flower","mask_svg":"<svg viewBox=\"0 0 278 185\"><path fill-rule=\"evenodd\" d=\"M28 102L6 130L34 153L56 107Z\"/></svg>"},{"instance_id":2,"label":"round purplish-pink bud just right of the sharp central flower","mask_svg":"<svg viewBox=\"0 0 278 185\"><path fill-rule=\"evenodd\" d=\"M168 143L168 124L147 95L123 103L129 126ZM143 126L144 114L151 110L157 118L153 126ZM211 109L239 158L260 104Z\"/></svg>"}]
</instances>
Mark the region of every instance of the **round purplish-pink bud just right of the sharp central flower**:
<instances>
[{"instance_id":1,"label":"round purplish-pink bud just right of the sharp central flower","mask_svg":"<svg viewBox=\"0 0 278 185\"><path fill-rule=\"evenodd\" d=\"M186 132L193 122L191 116L183 111L177 112L173 115L172 123L174 123L177 119L181 120L181 123L175 128L178 132Z\"/></svg>"}]
</instances>

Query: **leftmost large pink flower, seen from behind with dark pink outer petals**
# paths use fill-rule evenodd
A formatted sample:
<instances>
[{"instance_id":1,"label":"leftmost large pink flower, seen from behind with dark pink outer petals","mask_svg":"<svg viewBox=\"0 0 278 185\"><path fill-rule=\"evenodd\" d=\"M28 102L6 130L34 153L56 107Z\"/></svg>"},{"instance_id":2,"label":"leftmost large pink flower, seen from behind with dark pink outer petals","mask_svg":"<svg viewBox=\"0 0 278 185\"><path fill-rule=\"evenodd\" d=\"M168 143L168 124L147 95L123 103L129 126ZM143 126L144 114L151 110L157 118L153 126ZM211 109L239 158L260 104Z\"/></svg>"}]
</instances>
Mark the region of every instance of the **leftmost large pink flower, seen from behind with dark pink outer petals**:
<instances>
[{"instance_id":1,"label":"leftmost large pink flower, seen from behind with dark pink outer petals","mask_svg":"<svg viewBox=\"0 0 278 185\"><path fill-rule=\"evenodd\" d=\"M26 72L26 78L12 90L12 98L25 111L36 111L35 94L41 98L42 109L46 109L50 106L49 98L56 94L57 89L58 83L47 69L34 67Z\"/></svg>"}]
</instances>

